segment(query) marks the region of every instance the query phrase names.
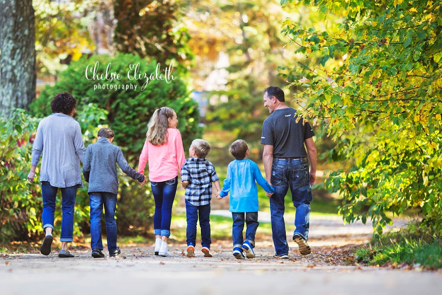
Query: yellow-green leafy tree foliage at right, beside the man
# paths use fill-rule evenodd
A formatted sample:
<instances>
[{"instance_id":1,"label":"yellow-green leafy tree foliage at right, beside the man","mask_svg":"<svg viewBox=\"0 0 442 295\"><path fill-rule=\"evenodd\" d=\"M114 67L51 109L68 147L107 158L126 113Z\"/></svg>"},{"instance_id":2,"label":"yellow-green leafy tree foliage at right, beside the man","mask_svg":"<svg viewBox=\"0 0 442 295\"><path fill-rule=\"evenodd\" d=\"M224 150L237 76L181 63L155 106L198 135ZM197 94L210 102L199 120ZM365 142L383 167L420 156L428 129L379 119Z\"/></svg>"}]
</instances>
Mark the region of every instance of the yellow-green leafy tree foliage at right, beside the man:
<instances>
[{"instance_id":1,"label":"yellow-green leafy tree foliage at right, beside the man","mask_svg":"<svg viewBox=\"0 0 442 295\"><path fill-rule=\"evenodd\" d=\"M283 0L287 5L293 1ZM382 233L391 219L419 208L424 224L440 231L442 155L442 14L440 1L303 1L324 18L339 17L333 30L293 20L283 31L316 62L292 65L303 78L296 102L304 118L337 142L334 159L349 170L332 172L325 185L341 192L347 222L372 219Z\"/></svg>"}]
</instances>

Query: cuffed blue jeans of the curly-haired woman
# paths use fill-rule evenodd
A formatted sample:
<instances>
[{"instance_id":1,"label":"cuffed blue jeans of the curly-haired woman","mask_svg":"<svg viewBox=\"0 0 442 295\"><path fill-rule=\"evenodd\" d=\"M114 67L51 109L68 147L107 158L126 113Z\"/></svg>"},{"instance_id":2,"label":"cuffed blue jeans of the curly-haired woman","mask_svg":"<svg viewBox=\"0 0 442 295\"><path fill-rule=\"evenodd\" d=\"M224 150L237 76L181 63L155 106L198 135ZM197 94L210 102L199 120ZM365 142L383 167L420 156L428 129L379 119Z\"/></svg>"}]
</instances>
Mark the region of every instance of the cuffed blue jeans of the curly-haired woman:
<instances>
[{"instance_id":1,"label":"cuffed blue jeans of the curly-haired woman","mask_svg":"<svg viewBox=\"0 0 442 295\"><path fill-rule=\"evenodd\" d=\"M51 186L48 181L41 183L42 197L43 197L43 231L50 227L54 229L54 212L55 200L57 197L58 188ZM61 191L61 242L72 242L74 231L74 211L75 198L77 195L77 186L60 188Z\"/></svg>"}]
</instances>

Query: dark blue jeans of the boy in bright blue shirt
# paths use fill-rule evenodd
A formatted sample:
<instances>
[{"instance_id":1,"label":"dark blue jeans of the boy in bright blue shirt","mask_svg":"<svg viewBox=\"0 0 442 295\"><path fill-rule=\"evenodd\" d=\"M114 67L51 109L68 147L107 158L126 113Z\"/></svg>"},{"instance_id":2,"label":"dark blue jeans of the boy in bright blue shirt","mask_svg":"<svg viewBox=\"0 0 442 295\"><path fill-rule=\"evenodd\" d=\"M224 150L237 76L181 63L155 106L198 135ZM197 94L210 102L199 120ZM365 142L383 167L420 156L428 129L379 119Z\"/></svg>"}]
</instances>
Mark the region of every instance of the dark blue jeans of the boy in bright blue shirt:
<instances>
[{"instance_id":1,"label":"dark blue jeans of the boy in bright blue shirt","mask_svg":"<svg viewBox=\"0 0 442 295\"><path fill-rule=\"evenodd\" d=\"M258 212L232 212L233 226L232 226L232 239L233 247L241 248L244 243L243 230L244 222L247 224L246 228L246 241L255 247L255 234L258 228Z\"/></svg>"}]
</instances>

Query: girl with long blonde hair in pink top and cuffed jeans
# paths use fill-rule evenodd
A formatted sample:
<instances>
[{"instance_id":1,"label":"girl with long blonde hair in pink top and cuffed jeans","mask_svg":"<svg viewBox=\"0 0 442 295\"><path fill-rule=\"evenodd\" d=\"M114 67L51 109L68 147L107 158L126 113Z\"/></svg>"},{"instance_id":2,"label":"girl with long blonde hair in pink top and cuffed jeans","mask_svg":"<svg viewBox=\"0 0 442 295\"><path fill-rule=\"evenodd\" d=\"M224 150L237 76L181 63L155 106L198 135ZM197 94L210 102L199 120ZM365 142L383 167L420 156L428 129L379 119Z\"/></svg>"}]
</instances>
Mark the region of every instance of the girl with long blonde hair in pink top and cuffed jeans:
<instances>
[{"instance_id":1,"label":"girl with long blonde hair in pink top and cuffed jeans","mask_svg":"<svg viewBox=\"0 0 442 295\"><path fill-rule=\"evenodd\" d=\"M176 128L178 120L170 107L156 109L146 133L138 172L143 174L149 161L149 180L155 199L154 233L155 255L171 256L167 249L172 219L172 204L184 157L183 141Z\"/></svg>"}]
</instances>

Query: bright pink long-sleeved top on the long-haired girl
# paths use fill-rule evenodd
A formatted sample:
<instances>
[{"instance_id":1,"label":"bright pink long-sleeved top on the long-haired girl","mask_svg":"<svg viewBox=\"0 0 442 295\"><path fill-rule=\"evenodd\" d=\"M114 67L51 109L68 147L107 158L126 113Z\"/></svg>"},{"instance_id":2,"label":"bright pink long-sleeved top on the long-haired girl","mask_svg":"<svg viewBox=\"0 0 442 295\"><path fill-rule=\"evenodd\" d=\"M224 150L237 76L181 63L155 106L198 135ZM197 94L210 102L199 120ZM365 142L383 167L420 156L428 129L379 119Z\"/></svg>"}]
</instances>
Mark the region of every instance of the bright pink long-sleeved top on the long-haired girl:
<instances>
[{"instance_id":1,"label":"bright pink long-sleeved top on the long-haired girl","mask_svg":"<svg viewBox=\"0 0 442 295\"><path fill-rule=\"evenodd\" d=\"M181 133L176 128L167 128L168 139L163 145L153 145L146 140L140 156L138 172L144 174L149 161L149 180L162 182L178 176L186 162Z\"/></svg>"}]
</instances>

